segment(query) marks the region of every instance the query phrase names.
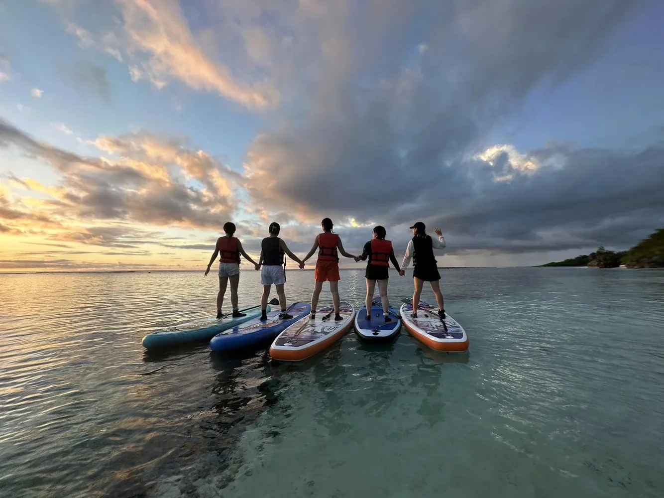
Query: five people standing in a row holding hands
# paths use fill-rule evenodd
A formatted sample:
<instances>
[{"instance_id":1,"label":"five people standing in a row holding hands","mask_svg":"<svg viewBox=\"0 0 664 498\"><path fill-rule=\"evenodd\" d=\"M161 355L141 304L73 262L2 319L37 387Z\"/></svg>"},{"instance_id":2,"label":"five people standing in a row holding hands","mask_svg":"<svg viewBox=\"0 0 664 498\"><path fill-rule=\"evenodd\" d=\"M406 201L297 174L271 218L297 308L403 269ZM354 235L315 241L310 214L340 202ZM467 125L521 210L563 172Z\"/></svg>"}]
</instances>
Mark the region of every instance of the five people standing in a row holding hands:
<instances>
[{"instance_id":1,"label":"five people standing in a row holding hands","mask_svg":"<svg viewBox=\"0 0 664 498\"><path fill-rule=\"evenodd\" d=\"M440 273L436 258L434 256L434 249L445 248L445 239L440 228L436 228L434 232L438 238L432 238L426 233L426 226L423 222L418 221L410 228L413 232L413 238L408 242L406 247L406 254L399 265L396 257L394 256L394 248L392 242L386 240L386 230L382 226L376 226L373 229L373 238L367 242L363 248L361 256L354 256L343 248L341 238L338 234L333 232L333 223L330 218L323 218L321 221L322 233L316 235L313 241L311 250L303 259L299 259L291 250L286 246L286 242L279 237L281 230L277 222L272 222L268 229L269 236L264 238L261 242L260 258L258 262L246 254L242 243L235 234L235 224L226 222L224 224L225 235L221 236L216 241L214 254L210 258L210 263L205 270L205 275L210 272L210 266L220 256L219 260L219 292L216 298L217 317L222 317L222 304L224 302L224 294L228 282L230 282L230 301L233 307L232 316L242 317L244 313L238 311L238 283L240 281L240 255L254 264L256 270L261 270L261 284L263 285L263 295L261 297L261 319L267 319L267 305L268 297L270 297L270 290L272 285L276 287L279 303L281 306L280 317L282 319L290 319L292 315L287 313L286 308L286 294L284 293L284 284L286 284L286 260L284 255L288 255L292 260L299 264L299 268L304 268L305 262L313 256L314 252L318 250L316 267L315 267L315 286L311 294L311 318L316 316L316 307L318 299L323 289L323 282L330 283L330 291L332 293L332 302L335 309L335 320L341 320L339 315L339 254L346 258L353 258L356 262L360 260L369 262L367 263L367 270L365 272L365 279L367 280L367 298L365 304L367 309L371 309L373 303L373 295L376 289L376 282L378 283L378 293L382 303L382 309L385 321L391 321L389 315L389 299L387 296L387 284L389 279L388 268L390 262L400 276L404 276L406 268L412 260L413 282L414 291L412 299L413 312L412 316L417 317L418 303L420 302L420 294L424 282L429 282L432 291L436 295L436 302L438 303L438 315L441 319L445 318L445 308L443 295L440 291L439 281ZM368 313L371 318L371 313Z\"/></svg>"}]
</instances>

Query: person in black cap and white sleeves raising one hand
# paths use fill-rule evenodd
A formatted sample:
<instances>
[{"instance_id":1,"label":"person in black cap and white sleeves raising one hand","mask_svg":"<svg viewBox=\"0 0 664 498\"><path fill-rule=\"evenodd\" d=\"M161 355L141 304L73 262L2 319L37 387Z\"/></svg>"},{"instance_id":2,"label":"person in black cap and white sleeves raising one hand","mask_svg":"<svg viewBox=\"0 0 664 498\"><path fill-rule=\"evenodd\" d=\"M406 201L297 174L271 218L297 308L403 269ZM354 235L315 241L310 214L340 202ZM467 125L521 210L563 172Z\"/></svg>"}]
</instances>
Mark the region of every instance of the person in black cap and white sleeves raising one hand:
<instances>
[{"instance_id":1,"label":"person in black cap and white sleeves raising one hand","mask_svg":"<svg viewBox=\"0 0 664 498\"><path fill-rule=\"evenodd\" d=\"M438 262L434 256L434 249L445 248L445 238L443 237L440 228L434 230L438 235L438 240L431 238L426 234L426 226L421 221L411 226L413 231L413 238L408 242L404 260L401 262L401 274L403 275L408 268L410 259L413 260L413 282L415 290L413 292L413 312L412 317L417 317L417 307L420 303L420 294L422 294L422 287L424 282L429 282L431 290L436 295L436 303L438 303L438 316L441 320L445 319L445 307L443 302L443 294L440 291L440 273L438 273Z\"/></svg>"}]
</instances>

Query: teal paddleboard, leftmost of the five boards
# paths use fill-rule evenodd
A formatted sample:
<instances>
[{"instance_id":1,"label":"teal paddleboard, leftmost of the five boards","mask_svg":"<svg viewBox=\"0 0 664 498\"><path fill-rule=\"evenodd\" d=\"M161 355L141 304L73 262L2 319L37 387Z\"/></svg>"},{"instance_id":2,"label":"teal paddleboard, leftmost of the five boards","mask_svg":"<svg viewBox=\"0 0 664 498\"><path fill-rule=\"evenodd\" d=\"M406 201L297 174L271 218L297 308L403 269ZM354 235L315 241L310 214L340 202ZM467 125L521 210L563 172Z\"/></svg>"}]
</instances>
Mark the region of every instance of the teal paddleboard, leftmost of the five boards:
<instances>
[{"instance_id":1,"label":"teal paddleboard, leftmost of the five boards","mask_svg":"<svg viewBox=\"0 0 664 498\"><path fill-rule=\"evenodd\" d=\"M270 311L269 305L267 310ZM242 313L246 313L246 316L233 318L229 313L228 316L223 318L212 316L181 323L175 325L175 327L149 333L143 337L141 343L145 349L155 349L194 341L209 341L212 337L226 329L230 329L230 327L260 317L260 305L254 307L254 309L243 310Z\"/></svg>"}]
</instances>

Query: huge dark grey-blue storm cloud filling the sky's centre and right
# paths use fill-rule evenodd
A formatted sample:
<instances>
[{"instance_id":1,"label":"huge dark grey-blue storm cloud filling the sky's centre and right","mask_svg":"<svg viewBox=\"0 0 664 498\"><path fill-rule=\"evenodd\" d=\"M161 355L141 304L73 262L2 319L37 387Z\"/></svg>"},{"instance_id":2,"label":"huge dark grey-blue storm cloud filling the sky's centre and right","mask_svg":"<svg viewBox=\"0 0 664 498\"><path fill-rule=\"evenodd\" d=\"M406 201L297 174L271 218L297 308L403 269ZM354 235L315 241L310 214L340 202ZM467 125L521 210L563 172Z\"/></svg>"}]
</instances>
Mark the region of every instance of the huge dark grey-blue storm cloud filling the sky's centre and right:
<instances>
[{"instance_id":1,"label":"huge dark grey-blue storm cloud filling the sky's centre and right","mask_svg":"<svg viewBox=\"0 0 664 498\"><path fill-rule=\"evenodd\" d=\"M452 251L592 245L619 223L632 228L611 241L632 244L662 222L660 148L557 146L526 158L471 156L487 149L487 131L529 92L561 82L602 54L640 5L422 1L410 10L390 4L385 26L421 28L426 45L418 56L399 30L376 29L355 11L331 15L321 23L335 29L321 29L321 44L360 48L325 52L320 75L308 93L303 87L308 111L252 143L246 187L268 210L297 211L312 224L322 216L380 223L399 234L400 244L410 236L404 225L420 218L430 228L440 224ZM390 46L396 62L376 57L367 42ZM365 233L367 240L371 228ZM352 243L361 240L353 236Z\"/></svg>"}]
</instances>

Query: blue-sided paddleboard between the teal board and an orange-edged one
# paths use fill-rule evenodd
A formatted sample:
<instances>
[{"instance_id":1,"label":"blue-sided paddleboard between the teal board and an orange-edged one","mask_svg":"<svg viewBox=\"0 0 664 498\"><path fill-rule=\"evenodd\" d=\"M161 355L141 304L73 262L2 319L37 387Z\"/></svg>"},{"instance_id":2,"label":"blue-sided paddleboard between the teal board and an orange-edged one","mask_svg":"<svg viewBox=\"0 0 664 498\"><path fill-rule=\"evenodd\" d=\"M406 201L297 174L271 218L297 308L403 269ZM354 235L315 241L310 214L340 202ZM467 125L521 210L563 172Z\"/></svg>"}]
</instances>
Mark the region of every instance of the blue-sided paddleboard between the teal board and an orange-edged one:
<instances>
[{"instance_id":1,"label":"blue-sided paddleboard between the teal board and an orange-edged one","mask_svg":"<svg viewBox=\"0 0 664 498\"><path fill-rule=\"evenodd\" d=\"M231 351L274 339L286 327L309 315L310 310L309 303L294 303L286 310L286 313L293 317L284 320L279 317L282 313L280 309L274 309L268 313L267 320L261 320L259 315L242 325L236 325L232 329L218 333L210 340L210 349L212 351Z\"/></svg>"}]
</instances>

